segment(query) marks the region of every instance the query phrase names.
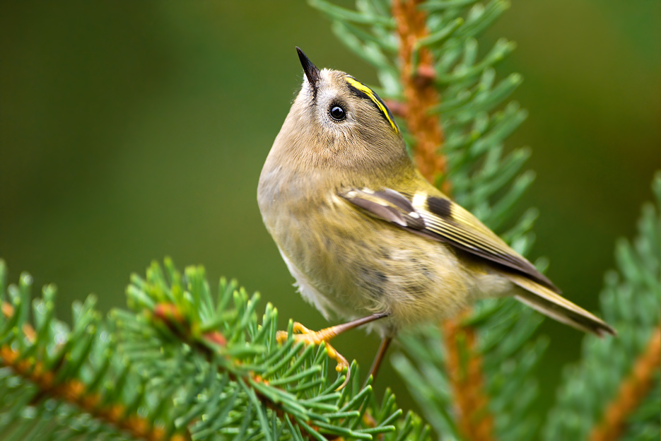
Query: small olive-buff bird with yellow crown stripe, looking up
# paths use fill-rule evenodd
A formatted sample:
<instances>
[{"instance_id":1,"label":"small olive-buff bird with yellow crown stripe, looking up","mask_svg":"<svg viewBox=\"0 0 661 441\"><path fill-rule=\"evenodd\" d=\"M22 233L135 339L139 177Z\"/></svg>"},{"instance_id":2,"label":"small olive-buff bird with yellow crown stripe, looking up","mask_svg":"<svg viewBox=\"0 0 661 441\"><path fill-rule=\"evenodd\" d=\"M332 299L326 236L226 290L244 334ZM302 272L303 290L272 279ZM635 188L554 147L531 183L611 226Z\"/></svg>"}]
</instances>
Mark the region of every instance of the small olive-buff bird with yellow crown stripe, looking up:
<instances>
[{"instance_id":1,"label":"small olive-buff bird with yellow crown stripe, looking up","mask_svg":"<svg viewBox=\"0 0 661 441\"><path fill-rule=\"evenodd\" d=\"M327 319L351 320L317 332L296 323L296 339L325 342L341 372L349 364L328 341L369 324L382 336L375 377L399 329L506 295L581 331L615 334L416 170L372 89L317 69L296 49L303 86L264 163L257 201L303 298Z\"/></svg>"}]
</instances>

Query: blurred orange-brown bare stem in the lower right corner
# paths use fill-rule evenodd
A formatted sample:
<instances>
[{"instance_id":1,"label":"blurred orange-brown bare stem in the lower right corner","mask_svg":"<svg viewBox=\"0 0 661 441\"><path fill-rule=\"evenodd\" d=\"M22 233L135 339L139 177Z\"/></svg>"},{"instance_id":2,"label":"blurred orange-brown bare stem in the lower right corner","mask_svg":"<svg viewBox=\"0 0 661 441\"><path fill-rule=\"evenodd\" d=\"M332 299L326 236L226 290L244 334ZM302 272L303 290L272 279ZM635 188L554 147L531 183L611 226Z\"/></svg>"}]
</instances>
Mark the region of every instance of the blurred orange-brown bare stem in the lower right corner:
<instances>
[{"instance_id":1,"label":"blurred orange-brown bare stem in the lower right corner","mask_svg":"<svg viewBox=\"0 0 661 441\"><path fill-rule=\"evenodd\" d=\"M590 433L590 441L614 441L624 431L626 419L650 392L652 378L661 367L661 327L656 327L645 351L620 384L619 391L604 411L601 423Z\"/></svg>"}]
</instances>

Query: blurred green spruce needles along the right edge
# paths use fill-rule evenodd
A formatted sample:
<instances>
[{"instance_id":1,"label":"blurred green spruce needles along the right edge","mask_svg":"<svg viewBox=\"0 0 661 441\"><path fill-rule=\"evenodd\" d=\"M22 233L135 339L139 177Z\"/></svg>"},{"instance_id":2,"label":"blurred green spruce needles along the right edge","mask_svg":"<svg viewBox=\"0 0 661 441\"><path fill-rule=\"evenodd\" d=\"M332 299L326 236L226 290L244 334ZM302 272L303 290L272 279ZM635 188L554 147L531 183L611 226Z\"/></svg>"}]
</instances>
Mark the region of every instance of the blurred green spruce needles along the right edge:
<instances>
[{"instance_id":1,"label":"blurred green spruce needles along the right edge","mask_svg":"<svg viewBox=\"0 0 661 441\"><path fill-rule=\"evenodd\" d=\"M643 206L638 237L633 244L618 242L617 271L606 275L601 295L602 312L618 332L616 339L585 336L579 365L563 375L555 408L544 427L546 440L582 440L603 416L633 363L645 351L661 310L661 172L653 182L656 207ZM608 367L608 369L604 369ZM657 440L661 429L661 372L653 387L628 421L625 439Z\"/></svg>"}]
</instances>

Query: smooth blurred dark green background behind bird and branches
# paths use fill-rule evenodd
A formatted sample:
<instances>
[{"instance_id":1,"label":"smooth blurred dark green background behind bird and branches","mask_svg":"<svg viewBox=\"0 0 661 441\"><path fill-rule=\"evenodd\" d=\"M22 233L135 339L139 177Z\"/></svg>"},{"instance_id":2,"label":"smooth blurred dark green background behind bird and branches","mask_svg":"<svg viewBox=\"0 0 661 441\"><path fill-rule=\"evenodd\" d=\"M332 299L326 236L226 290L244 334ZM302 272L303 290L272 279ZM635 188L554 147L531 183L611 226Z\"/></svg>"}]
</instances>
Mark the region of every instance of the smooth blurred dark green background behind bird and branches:
<instances>
[{"instance_id":1,"label":"smooth blurred dark green background behind bird and branches","mask_svg":"<svg viewBox=\"0 0 661 441\"><path fill-rule=\"evenodd\" d=\"M597 307L617 237L635 233L661 168L661 2L515 1L481 40L515 40L499 67L530 112L510 148L533 150L520 206L541 217L532 257ZM375 83L302 1L0 3L0 257L11 280L59 287L59 315L88 293L124 305L131 272L170 255L259 290L281 326L327 322L292 288L255 199L262 164L298 92L294 46L317 66ZM263 307L263 305L262 305ZM581 334L547 320L542 410ZM376 336L337 341L368 367ZM412 406L392 368L390 384ZM380 394L380 392L379 392Z\"/></svg>"}]
</instances>

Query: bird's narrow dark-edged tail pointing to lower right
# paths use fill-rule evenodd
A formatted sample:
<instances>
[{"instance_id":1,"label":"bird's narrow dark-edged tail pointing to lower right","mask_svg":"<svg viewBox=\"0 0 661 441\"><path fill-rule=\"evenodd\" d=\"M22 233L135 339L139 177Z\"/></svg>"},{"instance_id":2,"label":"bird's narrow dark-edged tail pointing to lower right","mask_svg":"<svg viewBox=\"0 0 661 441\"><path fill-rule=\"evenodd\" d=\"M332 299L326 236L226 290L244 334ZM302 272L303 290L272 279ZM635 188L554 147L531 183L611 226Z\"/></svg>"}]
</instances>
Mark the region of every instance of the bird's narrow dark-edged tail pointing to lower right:
<instances>
[{"instance_id":1,"label":"bird's narrow dark-edged tail pointing to lower right","mask_svg":"<svg viewBox=\"0 0 661 441\"><path fill-rule=\"evenodd\" d=\"M615 329L602 319L595 317L582 307L574 305L566 298L554 293L551 289L519 274L507 274L506 277L517 286L523 288L522 290L517 290L515 298L542 312L542 314L548 315L552 319L558 320L558 322L580 329L580 331L597 334L597 336L604 336L605 334L616 335Z\"/></svg>"}]
</instances>

